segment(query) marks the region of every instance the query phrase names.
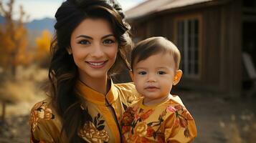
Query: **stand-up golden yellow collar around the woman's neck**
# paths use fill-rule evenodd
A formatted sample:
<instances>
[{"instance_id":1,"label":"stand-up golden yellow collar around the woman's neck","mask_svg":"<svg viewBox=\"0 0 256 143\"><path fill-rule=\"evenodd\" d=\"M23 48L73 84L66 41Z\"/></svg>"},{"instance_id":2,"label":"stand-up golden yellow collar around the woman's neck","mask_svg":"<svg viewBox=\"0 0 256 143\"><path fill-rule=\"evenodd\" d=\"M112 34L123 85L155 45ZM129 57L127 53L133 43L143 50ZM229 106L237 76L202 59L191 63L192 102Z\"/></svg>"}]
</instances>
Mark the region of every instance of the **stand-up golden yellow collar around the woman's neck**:
<instances>
[{"instance_id":1,"label":"stand-up golden yellow collar around the woman's neck","mask_svg":"<svg viewBox=\"0 0 256 143\"><path fill-rule=\"evenodd\" d=\"M113 102L115 102L116 99L118 99L118 89L113 84L112 79L110 79L110 81L111 81L110 90L105 95L88 87L86 84L82 83L80 80L77 80L75 87L77 89L78 94L80 94L80 96L82 96L84 99L86 99L89 102L105 105L106 104L105 98L106 98L108 99L108 102L112 104Z\"/></svg>"}]
</instances>

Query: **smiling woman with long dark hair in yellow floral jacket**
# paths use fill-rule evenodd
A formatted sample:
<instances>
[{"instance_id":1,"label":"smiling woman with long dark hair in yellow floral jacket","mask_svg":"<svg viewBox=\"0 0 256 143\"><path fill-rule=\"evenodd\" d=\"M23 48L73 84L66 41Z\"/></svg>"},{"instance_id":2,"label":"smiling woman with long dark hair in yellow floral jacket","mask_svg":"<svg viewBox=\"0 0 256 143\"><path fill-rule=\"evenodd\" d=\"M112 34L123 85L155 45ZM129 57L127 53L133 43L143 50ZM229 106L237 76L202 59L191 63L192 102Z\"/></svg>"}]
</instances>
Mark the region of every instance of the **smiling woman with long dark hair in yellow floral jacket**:
<instances>
[{"instance_id":1,"label":"smiling woman with long dark hair in yellow floral jacket","mask_svg":"<svg viewBox=\"0 0 256 143\"><path fill-rule=\"evenodd\" d=\"M31 142L121 142L119 122L138 99L133 84L110 75L130 68L131 49L119 4L67 0L55 14L49 98L32 108Z\"/></svg>"}]
</instances>

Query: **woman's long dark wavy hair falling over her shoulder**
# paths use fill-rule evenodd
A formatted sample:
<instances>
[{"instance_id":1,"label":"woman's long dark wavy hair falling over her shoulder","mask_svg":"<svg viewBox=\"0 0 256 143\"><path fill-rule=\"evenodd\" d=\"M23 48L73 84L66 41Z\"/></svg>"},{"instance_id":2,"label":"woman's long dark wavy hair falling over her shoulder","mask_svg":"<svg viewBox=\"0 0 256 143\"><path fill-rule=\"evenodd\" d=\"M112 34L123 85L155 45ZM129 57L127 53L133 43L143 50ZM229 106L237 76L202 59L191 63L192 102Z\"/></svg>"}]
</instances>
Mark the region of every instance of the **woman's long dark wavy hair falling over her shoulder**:
<instances>
[{"instance_id":1,"label":"woman's long dark wavy hair falling over her shoulder","mask_svg":"<svg viewBox=\"0 0 256 143\"><path fill-rule=\"evenodd\" d=\"M80 107L82 99L75 91L77 66L72 55L67 53L72 31L87 18L105 19L110 23L115 39L118 40L117 59L108 71L111 75L120 71L121 65L131 69L127 61L131 49L130 26L123 20L124 14L115 0L67 0L57 9L55 18L57 22L54 25L52 60L48 74L51 84L49 96L52 98L52 106L62 119L61 135L65 133L69 142L85 142L77 135L77 131L89 120L89 115Z\"/></svg>"}]
</instances>

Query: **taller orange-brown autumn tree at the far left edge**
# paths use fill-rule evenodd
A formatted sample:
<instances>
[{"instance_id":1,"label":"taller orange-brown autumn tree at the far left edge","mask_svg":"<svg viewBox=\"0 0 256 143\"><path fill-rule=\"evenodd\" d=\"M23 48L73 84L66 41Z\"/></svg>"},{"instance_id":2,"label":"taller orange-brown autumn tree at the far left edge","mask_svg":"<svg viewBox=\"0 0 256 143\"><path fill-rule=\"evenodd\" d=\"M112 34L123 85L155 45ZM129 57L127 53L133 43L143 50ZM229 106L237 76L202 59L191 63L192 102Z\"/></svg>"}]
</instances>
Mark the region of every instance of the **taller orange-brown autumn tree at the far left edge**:
<instances>
[{"instance_id":1,"label":"taller orange-brown autumn tree at the far left edge","mask_svg":"<svg viewBox=\"0 0 256 143\"><path fill-rule=\"evenodd\" d=\"M27 64L27 29L24 27L24 9L19 7L19 19L14 21L13 11L14 0L4 6L0 0L0 14L4 16L5 24L0 29L0 49L1 56L0 66L7 71L11 71L11 75L15 77L16 66ZM3 39L2 39L3 38Z\"/></svg>"}]
</instances>

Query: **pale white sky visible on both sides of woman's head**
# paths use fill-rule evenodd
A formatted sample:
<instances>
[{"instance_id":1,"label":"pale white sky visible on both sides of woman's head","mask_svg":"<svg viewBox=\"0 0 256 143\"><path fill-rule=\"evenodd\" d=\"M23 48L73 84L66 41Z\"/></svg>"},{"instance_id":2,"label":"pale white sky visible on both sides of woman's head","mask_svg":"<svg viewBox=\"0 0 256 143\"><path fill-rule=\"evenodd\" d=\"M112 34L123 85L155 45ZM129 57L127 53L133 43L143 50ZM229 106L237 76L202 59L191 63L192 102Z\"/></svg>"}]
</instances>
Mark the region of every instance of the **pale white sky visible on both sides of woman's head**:
<instances>
[{"instance_id":1,"label":"pale white sky visible on both sides of woman's head","mask_svg":"<svg viewBox=\"0 0 256 143\"><path fill-rule=\"evenodd\" d=\"M9 0L3 0L4 3ZM24 7L24 11L29 15L29 21L43 19L45 17L54 18L58 7L65 0L16 0L14 3L14 19L19 16L19 6ZM145 0L118 0L124 10L140 4Z\"/></svg>"}]
</instances>

